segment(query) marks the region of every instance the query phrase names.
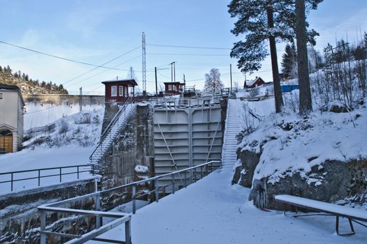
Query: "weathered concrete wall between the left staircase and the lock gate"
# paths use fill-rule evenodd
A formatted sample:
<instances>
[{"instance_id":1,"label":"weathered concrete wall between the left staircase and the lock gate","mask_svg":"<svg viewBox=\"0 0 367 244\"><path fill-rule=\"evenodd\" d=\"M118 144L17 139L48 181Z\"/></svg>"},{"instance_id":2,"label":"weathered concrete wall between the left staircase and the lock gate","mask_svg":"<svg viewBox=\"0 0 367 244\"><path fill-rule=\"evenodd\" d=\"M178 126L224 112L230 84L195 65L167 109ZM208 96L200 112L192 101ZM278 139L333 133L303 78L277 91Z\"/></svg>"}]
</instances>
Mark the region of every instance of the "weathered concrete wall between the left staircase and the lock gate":
<instances>
[{"instance_id":1,"label":"weathered concrete wall between the left staircase and the lock gate","mask_svg":"<svg viewBox=\"0 0 367 244\"><path fill-rule=\"evenodd\" d=\"M105 117L114 116L117 105L106 106ZM106 120L107 121L107 120ZM106 122L107 123L107 122ZM151 106L136 107L136 113L127 118L127 124L120 131L110 150L99 165L98 174L101 174L102 190L137 181L143 177L152 176L150 167L153 151L153 109ZM136 165L148 167L149 171L136 172ZM121 204L129 199L129 193L124 196L110 196L106 206Z\"/></svg>"}]
</instances>

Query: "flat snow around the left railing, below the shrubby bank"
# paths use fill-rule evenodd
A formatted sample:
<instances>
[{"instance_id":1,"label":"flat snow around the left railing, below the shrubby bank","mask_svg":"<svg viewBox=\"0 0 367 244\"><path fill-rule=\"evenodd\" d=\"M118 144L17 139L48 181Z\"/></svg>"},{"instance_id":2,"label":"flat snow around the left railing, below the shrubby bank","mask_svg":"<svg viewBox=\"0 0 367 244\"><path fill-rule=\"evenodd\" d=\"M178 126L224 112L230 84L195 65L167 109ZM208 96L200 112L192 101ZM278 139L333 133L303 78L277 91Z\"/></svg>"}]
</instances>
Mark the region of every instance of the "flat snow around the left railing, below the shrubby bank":
<instances>
[{"instance_id":1,"label":"flat snow around the left railing, below the shrubby bank","mask_svg":"<svg viewBox=\"0 0 367 244\"><path fill-rule=\"evenodd\" d=\"M21 171L28 169L41 169L50 167L65 167L72 165L87 165L89 155L94 147L64 146L62 148L36 148L34 150L24 149L17 153L7 153L0 155L0 173L9 171ZM85 170L80 167L80 171ZM62 173L77 171L76 167L62 169ZM59 169L41 171L41 176L59 174ZM14 174L14 179L37 177L38 171ZM80 179L94 178L89 172L80 173ZM77 174L62 176L62 183L77 180ZM10 181L10 174L0 175L0 181ZM41 178L41 186L59 184L59 176ZM16 181L13 185L13 192L29 190L38 187L38 179L27 181ZM0 195L10 193L10 183L0 184Z\"/></svg>"}]
</instances>

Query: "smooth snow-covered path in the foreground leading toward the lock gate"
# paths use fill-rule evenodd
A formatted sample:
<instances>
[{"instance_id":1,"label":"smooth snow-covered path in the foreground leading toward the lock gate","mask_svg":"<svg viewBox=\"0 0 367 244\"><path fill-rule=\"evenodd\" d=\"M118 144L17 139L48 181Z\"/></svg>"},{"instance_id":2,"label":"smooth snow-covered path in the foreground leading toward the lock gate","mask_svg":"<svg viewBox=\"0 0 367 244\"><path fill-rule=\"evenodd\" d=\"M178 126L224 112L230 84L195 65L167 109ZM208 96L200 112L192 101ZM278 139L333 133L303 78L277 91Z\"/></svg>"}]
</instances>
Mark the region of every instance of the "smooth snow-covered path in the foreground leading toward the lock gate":
<instances>
[{"instance_id":1,"label":"smooth snow-covered path in the foreground leading toward the lock gate","mask_svg":"<svg viewBox=\"0 0 367 244\"><path fill-rule=\"evenodd\" d=\"M247 201L247 188L228 179L228 173L215 171L139 209L131 220L132 243L366 243L366 229L358 224L357 234L342 237L331 216L292 218L292 213L261 211ZM349 231L346 220L340 224L340 231ZM123 236L124 225L103 234Z\"/></svg>"}]
</instances>

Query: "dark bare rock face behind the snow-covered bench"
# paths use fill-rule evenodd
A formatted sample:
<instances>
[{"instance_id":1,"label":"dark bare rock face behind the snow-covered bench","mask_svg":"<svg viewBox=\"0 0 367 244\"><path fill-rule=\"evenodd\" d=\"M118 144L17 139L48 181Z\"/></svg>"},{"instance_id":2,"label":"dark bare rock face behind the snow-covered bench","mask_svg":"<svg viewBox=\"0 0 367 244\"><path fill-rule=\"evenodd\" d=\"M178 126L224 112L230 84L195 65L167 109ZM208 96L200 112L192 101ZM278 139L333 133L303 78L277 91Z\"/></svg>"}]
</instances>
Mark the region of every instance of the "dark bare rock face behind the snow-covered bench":
<instances>
[{"instance_id":1,"label":"dark bare rock face behind the snow-covered bench","mask_svg":"<svg viewBox=\"0 0 367 244\"><path fill-rule=\"evenodd\" d=\"M326 160L322 165L312 167L310 172L302 173L300 170L292 176L280 178L280 181L275 183L268 183L268 178L254 180L250 199L254 200L254 205L259 208L294 211L294 208L275 201L275 195L287 194L336 202L348 197L353 199L353 196L366 192L367 160L353 162ZM358 204L366 201L366 198L357 199Z\"/></svg>"}]
</instances>

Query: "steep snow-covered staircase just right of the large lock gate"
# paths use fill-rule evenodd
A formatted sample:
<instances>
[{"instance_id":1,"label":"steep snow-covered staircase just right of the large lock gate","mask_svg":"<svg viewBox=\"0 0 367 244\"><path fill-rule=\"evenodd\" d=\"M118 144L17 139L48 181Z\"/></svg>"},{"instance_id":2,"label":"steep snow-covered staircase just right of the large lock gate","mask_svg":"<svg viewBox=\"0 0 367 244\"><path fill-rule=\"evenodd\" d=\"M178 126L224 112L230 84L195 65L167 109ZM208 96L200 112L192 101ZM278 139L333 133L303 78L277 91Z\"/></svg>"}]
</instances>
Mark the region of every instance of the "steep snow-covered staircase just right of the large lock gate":
<instances>
[{"instance_id":1,"label":"steep snow-covered staircase just right of the large lock gate","mask_svg":"<svg viewBox=\"0 0 367 244\"><path fill-rule=\"evenodd\" d=\"M222 172L233 171L233 166L236 163L236 135L241 130L240 123L240 109L238 108L238 103L236 102L236 100L229 99L228 108L226 111L224 144L222 148Z\"/></svg>"}]
</instances>

